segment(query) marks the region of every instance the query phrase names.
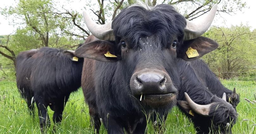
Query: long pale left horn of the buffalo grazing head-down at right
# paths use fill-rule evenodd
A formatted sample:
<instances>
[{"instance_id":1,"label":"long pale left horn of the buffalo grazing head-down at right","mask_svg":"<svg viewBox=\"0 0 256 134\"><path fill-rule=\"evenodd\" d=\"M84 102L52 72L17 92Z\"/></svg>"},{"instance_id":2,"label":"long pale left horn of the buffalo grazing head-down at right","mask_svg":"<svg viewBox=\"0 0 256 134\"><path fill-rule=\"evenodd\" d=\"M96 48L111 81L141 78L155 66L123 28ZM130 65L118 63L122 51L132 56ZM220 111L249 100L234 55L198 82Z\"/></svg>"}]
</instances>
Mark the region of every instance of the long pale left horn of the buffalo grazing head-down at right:
<instances>
[{"instance_id":1,"label":"long pale left horn of the buffalo grazing head-down at right","mask_svg":"<svg viewBox=\"0 0 256 134\"><path fill-rule=\"evenodd\" d=\"M188 94L186 92L184 94L185 94L185 98L188 102L188 105L191 107L191 109L193 111L195 111L199 115L209 116L209 111L210 111L211 104L208 104L208 105L196 104L192 99L190 99L190 97L188 96Z\"/></svg>"}]
</instances>

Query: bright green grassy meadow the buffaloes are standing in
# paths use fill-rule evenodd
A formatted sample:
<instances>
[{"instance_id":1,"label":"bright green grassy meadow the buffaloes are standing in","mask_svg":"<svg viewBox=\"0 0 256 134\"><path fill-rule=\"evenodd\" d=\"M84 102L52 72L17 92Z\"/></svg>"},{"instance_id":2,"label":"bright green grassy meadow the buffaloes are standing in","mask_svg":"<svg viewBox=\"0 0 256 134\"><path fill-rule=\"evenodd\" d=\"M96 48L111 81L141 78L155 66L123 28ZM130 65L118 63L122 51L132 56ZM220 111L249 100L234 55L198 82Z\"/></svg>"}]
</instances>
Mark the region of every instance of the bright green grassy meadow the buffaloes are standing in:
<instances>
[{"instance_id":1,"label":"bright green grassy meadow the buffaloes are standing in","mask_svg":"<svg viewBox=\"0 0 256 134\"><path fill-rule=\"evenodd\" d=\"M222 83L229 89L236 87L240 93L240 103L237 106L239 118L232 128L233 134L255 134L256 133L256 104L248 103L244 98L255 100L255 81L224 80ZM50 118L53 112L48 108ZM37 110L35 111L37 113ZM52 119L51 119L51 122ZM254 124L254 125L253 125ZM47 133L52 133L53 124ZM170 110L165 125L165 132L171 133L195 133L193 124L183 115L179 109L174 107ZM72 93L65 107L63 121L57 126L56 133L94 133L90 124L88 106L84 103L82 90ZM104 126L101 126L101 133L107 133ZM24 99L18 93L15 82L0 81L0 133L40 133L39 118L35 114L30 116ZM146 133L155 133L152 123L149 123Z\"/></svg>"}]
</instances>

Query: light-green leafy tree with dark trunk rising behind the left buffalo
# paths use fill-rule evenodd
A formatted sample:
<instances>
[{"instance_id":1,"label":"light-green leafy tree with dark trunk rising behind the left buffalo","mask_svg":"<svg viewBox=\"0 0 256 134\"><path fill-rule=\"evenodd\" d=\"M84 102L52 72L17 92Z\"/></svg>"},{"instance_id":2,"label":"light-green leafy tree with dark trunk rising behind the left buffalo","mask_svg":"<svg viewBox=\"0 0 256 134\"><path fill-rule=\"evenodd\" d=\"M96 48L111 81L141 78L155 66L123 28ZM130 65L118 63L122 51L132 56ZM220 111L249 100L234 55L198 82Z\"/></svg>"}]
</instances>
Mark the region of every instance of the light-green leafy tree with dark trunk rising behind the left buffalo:
<instances>
[{"instance_id":1,"label":"light-green leafy tree with dark trunk rising behind the left buffalo","mask_svg":"<svg viewBox=\"0 0 256 134\"><path fill-rule=\"evenodd\" d=\"M49 46L51 35L76 36L85 39L86 35L75 34L72 30L74 26L89 35L76 19L82 20L82 16L75 11L57 9L57 4L52 0L20 0L16 7L5 8L2 12L6 17L15 15L21 22L15 21L14 24L25 26L27 32L35 32L39 35L41 46ZM32 35L33 36L33 35Z\"/></svg>"}]
</instances>

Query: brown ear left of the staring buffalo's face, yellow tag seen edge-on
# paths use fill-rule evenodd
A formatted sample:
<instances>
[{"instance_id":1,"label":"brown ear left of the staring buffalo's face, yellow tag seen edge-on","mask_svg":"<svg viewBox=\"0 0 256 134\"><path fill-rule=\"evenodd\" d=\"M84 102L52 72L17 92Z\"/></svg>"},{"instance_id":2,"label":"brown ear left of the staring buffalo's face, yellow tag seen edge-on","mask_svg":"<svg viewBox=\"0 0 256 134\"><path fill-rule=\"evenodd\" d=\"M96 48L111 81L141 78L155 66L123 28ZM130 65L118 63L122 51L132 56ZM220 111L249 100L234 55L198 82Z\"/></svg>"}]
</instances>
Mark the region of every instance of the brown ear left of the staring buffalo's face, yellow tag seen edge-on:
<instances>
[{"instance_id":1,"label":"brown ear left of the staring buffalo's face, yellow tag seen edge-on","mask_svg":"<svg viewBox=\"0 0 256 134\"><path fill-rule=\"evenodd\" d=\"M107 56L105 56L105 54L107 54ZM116 62L120 58L117 55L115 57L114 44L105 40L96 40L82 45L76 49L75 56L90 58L101 62Z\"/></svg>"}]
</instances>

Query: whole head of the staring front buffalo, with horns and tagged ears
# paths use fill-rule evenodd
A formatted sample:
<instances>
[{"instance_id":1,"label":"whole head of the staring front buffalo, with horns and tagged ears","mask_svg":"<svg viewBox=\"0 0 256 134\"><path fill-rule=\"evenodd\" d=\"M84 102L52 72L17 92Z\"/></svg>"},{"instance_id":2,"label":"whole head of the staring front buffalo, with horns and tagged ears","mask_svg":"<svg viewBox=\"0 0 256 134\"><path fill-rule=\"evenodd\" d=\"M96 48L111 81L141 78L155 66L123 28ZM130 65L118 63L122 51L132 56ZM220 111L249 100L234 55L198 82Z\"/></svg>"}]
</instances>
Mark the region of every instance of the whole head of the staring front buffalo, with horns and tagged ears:
<instances>
[{"instance_id":1,"label":"whole head of the staring front buffalo, with horns and tagged ears","mask_svg":"<svg viewBox=\"0 0 256 134\"><path fill-rule=\"evenodd\" d=\"M76 50L76 56L116 62L130 95L150 107L173 105L180 86L177 58L194 60L217 48L202 34L210 27L217 5L201 22L186 20L171 5L133 5L104 25L83 12L89 31L100 40ZM192 48L195 57L188 57ZM191 53L192 54L192 53Z\"/></svg>"}]
</instances>

